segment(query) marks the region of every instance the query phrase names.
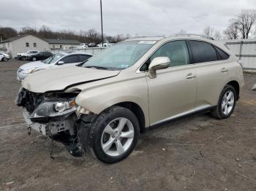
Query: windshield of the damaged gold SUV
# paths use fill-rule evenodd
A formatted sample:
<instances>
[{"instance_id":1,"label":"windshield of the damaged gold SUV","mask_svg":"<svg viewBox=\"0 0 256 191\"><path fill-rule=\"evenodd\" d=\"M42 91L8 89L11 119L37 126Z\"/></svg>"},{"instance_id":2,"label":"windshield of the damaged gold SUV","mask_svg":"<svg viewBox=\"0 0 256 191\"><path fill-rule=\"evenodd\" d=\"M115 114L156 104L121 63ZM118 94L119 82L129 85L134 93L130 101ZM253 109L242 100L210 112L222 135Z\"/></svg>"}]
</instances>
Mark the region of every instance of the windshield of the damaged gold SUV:
<instances>
[{"instance_id":1,"label":"windshield of the damaged gold SUV","mask_svg":"<svg viewBox=\"0 0 256 191\"><path fill-rule=\"evenodd\" d=\"M155 43L155 41L120 42L90 58L82 67L109 70L127 69L135 64Z\"/></svg>"}]
</instances>

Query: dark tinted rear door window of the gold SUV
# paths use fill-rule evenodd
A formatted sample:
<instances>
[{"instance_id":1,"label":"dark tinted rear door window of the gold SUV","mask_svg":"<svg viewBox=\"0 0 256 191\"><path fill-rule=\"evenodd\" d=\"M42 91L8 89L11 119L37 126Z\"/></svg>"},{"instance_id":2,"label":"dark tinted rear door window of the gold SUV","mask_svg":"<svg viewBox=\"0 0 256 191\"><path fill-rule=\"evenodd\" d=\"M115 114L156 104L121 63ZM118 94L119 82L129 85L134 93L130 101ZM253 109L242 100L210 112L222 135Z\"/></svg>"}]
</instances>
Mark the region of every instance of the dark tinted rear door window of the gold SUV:
<instances>
[{"instance_id":1,"label":"dark tinted rear door window of the gold SUV","mask_svg":"<svg viewBox=\"0 0 256 191\"><path fill-rule=\"evenodd\" d=\"M214 47L201 41L189 41L192 51L193 63L218 61L217 52Z\"/></svg>"}]
</instances>

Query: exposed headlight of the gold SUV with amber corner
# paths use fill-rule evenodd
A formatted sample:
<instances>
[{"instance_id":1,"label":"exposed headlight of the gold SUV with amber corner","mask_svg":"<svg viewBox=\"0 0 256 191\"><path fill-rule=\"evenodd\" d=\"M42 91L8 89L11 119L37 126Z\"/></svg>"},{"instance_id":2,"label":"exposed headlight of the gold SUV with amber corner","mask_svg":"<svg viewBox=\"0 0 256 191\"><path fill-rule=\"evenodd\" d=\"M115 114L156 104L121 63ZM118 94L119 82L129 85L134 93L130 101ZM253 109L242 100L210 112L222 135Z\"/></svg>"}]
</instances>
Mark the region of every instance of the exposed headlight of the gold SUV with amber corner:
<instances>
[{"instance_id":1,"label":"exposed headlight of the gold SUV with amber corner","mask_svg":"<svg viewBox=\"0 0 256 191\"><path fill-rule=\"evenodd\" d=\"M56 117L64 114L70 114L75 112L77 105L75 100L56 100L56 101L44 101L40 104L34 112L31 113L31 118L42 118L42 117Z\"/></svg>"}]
</instances>

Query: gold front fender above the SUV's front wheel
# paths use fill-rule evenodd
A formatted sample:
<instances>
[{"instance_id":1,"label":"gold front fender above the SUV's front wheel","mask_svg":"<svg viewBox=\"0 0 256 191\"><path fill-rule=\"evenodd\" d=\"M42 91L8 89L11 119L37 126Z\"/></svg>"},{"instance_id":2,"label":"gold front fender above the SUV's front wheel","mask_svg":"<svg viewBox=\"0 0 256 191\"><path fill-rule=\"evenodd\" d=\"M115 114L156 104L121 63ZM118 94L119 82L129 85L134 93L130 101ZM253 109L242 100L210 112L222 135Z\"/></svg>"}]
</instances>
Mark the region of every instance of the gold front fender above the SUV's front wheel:
<instances>
[{"instance_id":1,"label":"gold front fender above the SUV's front wheel","mask_svg":"<svg viewBox=\"0 0 256 191\"><path fill-rule=\"evenodd\" d=\"M146 125L148 118L148 85L145 77L113 82L82 90L75 102L95 114L121 102L133 102L143 110Z\"/></svg>"}]
</instances>

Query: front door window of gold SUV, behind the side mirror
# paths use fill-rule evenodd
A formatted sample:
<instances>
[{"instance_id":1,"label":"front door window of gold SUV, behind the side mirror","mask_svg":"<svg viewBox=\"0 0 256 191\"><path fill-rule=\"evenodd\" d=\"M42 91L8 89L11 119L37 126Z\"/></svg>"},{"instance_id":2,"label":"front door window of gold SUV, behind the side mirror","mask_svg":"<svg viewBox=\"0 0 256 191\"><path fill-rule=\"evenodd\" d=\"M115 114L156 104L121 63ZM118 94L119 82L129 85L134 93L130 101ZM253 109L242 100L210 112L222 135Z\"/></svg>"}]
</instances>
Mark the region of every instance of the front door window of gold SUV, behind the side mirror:
<instances>
[{"instance_id":1,"label":"front door window of gold SUV, behind the side mirror","mask_svg":"<svg viewBox=\"0 0 256 191\"><path fill-rule=\"evenodd\" d=\"M167 42L162 47L151 55L151 58L140 68L140 71L148 70L148 66L157 57L168 57L170 58L170 67L172 66L183 66L189 64L189 52L187 50L187 44L185 41L173 41Z\"/></svg>"}]
</instances>

